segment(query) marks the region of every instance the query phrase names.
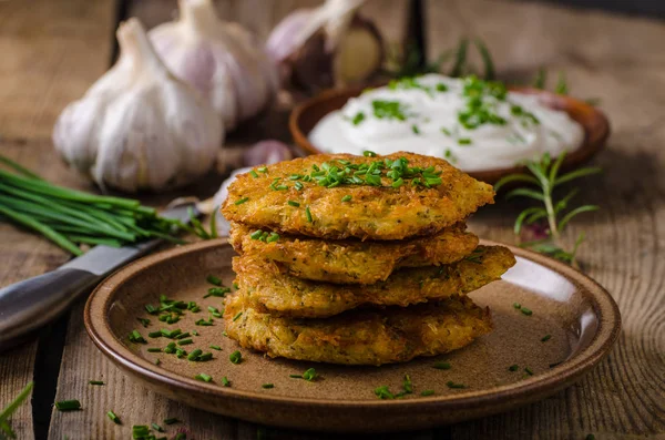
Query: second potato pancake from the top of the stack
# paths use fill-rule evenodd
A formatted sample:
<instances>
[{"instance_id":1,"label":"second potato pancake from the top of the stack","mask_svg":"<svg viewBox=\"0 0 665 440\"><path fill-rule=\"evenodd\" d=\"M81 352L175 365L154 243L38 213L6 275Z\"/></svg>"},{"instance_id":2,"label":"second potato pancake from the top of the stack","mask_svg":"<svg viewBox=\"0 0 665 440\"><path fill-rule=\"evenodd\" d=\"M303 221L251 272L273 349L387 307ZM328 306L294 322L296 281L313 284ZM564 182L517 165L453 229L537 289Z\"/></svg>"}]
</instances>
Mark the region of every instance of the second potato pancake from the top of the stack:
<instances>
[{"instance_id":1,"label":"second potato pancake from the top of the stack","mask_svg":"<svg viewBox=\"0 0 665 440\"><path fill-rule=\"evenodd\" d=\"M402 242L321 241L267 233L234 223L231 244L238 254L274 260L290 275L337 284L383 282L399 267L439 266L459 262L478 246L478 237L458 223L430 237Z\"/></svg>"}]
</instances>

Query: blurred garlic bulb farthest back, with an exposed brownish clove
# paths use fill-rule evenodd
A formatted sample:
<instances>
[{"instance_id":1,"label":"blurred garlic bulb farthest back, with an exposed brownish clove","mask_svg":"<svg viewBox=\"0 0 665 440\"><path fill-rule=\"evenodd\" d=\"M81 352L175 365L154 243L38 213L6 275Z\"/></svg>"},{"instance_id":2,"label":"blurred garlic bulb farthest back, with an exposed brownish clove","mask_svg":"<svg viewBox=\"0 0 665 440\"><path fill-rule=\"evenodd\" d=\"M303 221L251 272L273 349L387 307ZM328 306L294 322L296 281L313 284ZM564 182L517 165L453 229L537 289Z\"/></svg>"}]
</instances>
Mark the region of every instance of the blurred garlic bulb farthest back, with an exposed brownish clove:
<instances>
[{"instance_id":1,"label":"blurred garlic bulb farthest back, with an exposed brownish clove","mask_svg":"<svg viewBox=\"0 0 665 440\"><path fill-rule=\"evenodd\" d=\"M306 90L370 80L381 68L383 45L377 28L358 16L365 0L326 0L299 9L275 27L266 49L284 82Z\"/></svg>"}]
</instances>

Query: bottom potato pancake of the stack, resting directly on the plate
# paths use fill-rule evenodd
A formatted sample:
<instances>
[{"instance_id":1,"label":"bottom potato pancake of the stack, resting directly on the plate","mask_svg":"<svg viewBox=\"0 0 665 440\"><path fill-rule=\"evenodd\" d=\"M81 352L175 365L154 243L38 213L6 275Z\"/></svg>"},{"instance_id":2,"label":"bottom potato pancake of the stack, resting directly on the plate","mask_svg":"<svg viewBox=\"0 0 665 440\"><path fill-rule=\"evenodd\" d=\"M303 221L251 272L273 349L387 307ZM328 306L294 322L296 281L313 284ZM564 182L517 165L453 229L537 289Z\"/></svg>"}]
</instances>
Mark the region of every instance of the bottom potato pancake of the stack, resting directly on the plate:
<instances>
[{"instance_id":1,"label":"bottom potato pancake of the stack, resting directly on the plate","mask_svg":"<svg viewBox=\"0 0 665 440\"><path fill-rule=\"evenodd\" d=\"M294 319L260 313L235 294L227 299L224 320L231 338L270 357L375 366L449 352L492 329L489 309L466 297Z\"/></svg>"}]
</instances>

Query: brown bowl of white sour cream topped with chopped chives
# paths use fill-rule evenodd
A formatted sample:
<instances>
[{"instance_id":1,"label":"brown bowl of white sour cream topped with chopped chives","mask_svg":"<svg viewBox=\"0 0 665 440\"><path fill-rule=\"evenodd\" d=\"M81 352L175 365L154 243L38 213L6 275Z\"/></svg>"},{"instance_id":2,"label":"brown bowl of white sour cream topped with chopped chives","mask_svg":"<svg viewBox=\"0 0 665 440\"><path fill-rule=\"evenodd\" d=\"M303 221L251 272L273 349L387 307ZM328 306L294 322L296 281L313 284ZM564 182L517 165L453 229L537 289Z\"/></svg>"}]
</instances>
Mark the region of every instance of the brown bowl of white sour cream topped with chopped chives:
<instances>
[{"instance_id":1,"label":"brown bowl of white sour cream topped with chopped chives","mask_svg":"<svg viewBox=\"0 0 665 440\"><path fill-rule=\"evenodd\" d=\"M574 167L610 134L606 116L583 101L440 74L323 92L293 111L289 127L310 154L408 151L489 183L544 153L566 153L564 167Z\"/></svg>"}]
</instances>

